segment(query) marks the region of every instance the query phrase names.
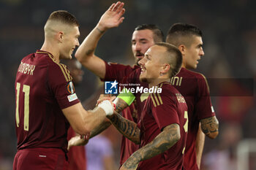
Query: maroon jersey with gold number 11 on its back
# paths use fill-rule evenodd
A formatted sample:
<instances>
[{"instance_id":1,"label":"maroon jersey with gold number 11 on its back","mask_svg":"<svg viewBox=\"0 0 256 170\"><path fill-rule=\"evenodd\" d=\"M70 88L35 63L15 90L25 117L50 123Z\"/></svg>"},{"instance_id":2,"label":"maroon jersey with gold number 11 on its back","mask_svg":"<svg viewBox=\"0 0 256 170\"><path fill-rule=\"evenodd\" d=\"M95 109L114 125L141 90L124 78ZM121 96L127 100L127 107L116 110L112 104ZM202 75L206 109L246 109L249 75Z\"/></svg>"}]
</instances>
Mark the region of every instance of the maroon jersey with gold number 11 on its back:
<instances>
[{"instance_id":1,"label":"maroon jersey with gold number 11 on its back","mask_svg":"<svg viewBox=\"0 0 256 170\"><path fill-rule=\"evenodd\" d=\"M67 151L69 123L61 109L80 102L67 67L37 50L20 63L15 80L18 150L34 147Z\"/></svg>"}]
</instances>

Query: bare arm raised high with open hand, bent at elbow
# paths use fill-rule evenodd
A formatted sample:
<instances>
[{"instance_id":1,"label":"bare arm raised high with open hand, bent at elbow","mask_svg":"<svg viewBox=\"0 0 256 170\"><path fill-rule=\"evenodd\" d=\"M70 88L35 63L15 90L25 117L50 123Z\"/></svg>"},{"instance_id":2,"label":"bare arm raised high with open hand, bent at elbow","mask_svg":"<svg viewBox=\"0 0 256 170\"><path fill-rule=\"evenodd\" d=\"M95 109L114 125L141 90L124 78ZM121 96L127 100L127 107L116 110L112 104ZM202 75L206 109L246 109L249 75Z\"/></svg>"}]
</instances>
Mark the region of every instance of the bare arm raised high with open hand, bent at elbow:
<instances>
[{"instance_id":1,"label":"bare arm raised high with open hand, bent at elbow","mask_svg":"<svg viewBox=\"0 0 256 170\"><path fill-rule=\"evenodd\" d=\"M78 47L75 58L82 63L86 69L96 74L100 78L105 77L105 62L94 55L99 39L109 28L119 26L123 22L125 9L124 3L118 1L112 4L110 8L102 15L97 26L86 36L83 43Z\"/></svg>"}]
</instances>

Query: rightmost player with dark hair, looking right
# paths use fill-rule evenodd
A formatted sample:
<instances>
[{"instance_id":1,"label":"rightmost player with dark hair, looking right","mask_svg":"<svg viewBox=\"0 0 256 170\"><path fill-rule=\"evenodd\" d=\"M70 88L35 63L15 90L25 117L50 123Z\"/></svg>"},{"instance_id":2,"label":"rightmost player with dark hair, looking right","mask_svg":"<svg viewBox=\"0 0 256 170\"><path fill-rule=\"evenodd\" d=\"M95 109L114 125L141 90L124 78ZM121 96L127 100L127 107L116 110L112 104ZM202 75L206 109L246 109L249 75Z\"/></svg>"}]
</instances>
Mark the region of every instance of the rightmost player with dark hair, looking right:
<instances>
[{"instance_id":1,"label":"rightmost player with dark hair, looking right","mask_svg":"<svg viewBox=\"0 0 256 170\"><path fill-rule=\"evenodd\" d=\"M214 139L219 123L211 105L209 87L203 74L189 71L196 69L204 55L202 31L196 26L176 23L170 27L166 42L178 47L183 55L181 72L170 83L184 96L189 115L189 133L184 155L185 169L200 169L205 135ZM200 125L201 124L201 125ZM200 127L203 131L200 130Z\"/></svg>"}]
</instances>

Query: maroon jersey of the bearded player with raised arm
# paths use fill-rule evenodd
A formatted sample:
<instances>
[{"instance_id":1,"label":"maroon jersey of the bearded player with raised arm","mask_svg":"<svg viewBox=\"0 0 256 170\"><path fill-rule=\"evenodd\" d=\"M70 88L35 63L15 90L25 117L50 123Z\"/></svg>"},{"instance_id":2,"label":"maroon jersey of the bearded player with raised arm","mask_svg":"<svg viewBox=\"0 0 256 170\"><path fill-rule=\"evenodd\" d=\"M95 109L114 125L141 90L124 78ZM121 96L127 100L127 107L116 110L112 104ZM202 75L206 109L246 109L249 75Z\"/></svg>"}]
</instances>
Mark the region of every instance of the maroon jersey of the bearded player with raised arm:
<instances>
[{"instance_id":1,"label":"maroon jersey of the bearded player with raised arm","mask_svg":"<svg viewBox=\"0 0 256 170\"><path fill-rule=\"evenodd\" d=\"M107 63L106 66L106 74L103 81L112 81L116 80L119 83L124 82L124 77L127 77L136 69L139 69L139 66L129 66L118 63ZM128 120L132 120L135 123L138 123L138 112L137 112L137 102L133 102L129 107L122 111L123 117ZM131 142L126 137L122 136L121 139L121 153L120 153L120 164L122 165L133 152L138 150L138 144Z\"/></svg>"}]
</instances>

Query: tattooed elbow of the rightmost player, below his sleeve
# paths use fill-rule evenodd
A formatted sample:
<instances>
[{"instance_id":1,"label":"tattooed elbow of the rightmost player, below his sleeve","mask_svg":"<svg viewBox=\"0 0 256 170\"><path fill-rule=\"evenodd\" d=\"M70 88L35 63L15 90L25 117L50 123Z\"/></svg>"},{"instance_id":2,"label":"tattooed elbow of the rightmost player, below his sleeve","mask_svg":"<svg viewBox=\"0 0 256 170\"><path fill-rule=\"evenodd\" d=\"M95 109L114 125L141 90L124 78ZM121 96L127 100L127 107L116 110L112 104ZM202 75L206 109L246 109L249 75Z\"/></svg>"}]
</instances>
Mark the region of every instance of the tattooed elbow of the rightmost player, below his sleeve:
<instances>
[{"instance_id":1,"label":"tattooed elbow of the rightmost player, below his sleeve","mask_svg":"<svg viewBox=\"0 0 256 170\"><path fill-rule=\"evenodd\" d=\"M219 134L219 121L216 116L207 117L200 120L201 128L204 134L211 139L215 139Z\"/></svg>"}]
</instances>

